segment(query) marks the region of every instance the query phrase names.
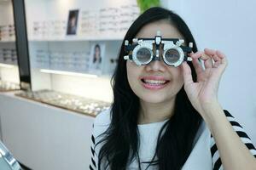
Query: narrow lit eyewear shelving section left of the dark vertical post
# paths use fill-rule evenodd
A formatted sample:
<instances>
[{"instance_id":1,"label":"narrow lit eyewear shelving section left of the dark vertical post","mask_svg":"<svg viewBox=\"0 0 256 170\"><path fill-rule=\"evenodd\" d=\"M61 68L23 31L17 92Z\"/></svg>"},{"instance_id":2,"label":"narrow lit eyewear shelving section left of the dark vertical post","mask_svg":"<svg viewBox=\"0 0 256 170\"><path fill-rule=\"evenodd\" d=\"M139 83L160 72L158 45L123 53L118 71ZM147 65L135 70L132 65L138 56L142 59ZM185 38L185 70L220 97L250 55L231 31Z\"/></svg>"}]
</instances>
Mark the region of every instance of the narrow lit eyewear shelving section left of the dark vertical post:
<instances>
[{"instance_id":1,"label":"narrow lit eyewear shelving section left of the dark vertical post","mask_svg":"<svg viewBox=\"0 0 256 170\"><path fill-rule=\"evenodd\" d=\"M0 92L7 92L20 89L11 0L0 1L0 16Z\"/></svg>"}]
</instances>

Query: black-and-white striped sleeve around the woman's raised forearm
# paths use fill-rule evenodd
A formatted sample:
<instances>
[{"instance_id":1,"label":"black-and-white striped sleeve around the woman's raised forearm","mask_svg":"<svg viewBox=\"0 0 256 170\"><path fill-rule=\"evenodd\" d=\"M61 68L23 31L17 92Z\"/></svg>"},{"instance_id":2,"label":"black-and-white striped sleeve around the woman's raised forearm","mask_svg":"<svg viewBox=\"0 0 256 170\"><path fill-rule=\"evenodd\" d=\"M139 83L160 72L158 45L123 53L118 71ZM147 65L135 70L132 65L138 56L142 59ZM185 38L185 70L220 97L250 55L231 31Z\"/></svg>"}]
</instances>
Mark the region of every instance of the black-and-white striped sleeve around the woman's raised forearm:
<instances>
[{"instance_id":1,"label":"black-and-white striped sleeve around the woman's raised forearm","mask_svg":"<svg viewBox=\"0 0 256 170\"><path fill-rule=\"evenodd\" d=\"M241 141L247 146L248 150L253 154L254 157L256 157L256 150L255 147L253 146L253 143L251 139L247 136L247 133L244 132L243 128L241 125L236 122L234 116L231 116L229 111L224 111L225 116L227 119L230 121L230 124L240 137ZM212 166L213 170L223 170L224 167L222 165L221 159L218 154L218 148L217 145L215 144L215 141L211 135L211 154L212 154Z\"/></svg>"}]
</instances>

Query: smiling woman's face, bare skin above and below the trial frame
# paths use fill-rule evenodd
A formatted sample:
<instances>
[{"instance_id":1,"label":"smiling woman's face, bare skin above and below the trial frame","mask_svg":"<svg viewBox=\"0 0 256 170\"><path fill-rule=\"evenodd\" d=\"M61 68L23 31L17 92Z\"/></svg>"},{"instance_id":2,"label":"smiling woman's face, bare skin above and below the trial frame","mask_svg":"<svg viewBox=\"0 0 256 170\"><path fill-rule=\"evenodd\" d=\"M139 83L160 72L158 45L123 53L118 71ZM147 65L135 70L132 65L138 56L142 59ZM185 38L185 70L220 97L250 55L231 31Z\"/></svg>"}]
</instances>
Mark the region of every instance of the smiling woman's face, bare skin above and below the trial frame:
<instances>
[{"instance_id":1,"label":"smiling woman's face, bare skin above and below the trial frame","mask_svg":"<svg viewBox=\"0 0 256 170\"><path fill-rule=\"evenodd\" d=\"M167 21L150 23L137 33L136 37L155 37L160 31L162 38L182 38L183 36ZM162 52L160 51L160 58ZM131 89L141 101L162 103L171 101L183 87L183 72L181 65L172 67L160 61L151 61L148 65L138 66L127 60L127 77Z\"/></svg>"}]
</instances>

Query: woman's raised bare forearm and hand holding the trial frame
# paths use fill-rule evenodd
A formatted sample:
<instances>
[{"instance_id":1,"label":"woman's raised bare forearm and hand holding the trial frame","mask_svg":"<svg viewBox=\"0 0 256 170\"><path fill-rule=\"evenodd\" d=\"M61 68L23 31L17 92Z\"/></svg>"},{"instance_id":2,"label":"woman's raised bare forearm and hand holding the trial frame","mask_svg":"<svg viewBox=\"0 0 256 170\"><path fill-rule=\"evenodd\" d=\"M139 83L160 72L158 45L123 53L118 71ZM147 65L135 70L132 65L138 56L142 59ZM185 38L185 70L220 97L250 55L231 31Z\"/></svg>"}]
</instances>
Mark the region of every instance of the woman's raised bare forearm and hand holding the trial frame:
<instances>
[{"instance_id":1,"label":"woman's raised bare forearm and hand holding the trial frame","mask_svg":"<svg viewBox=\"0 0 256 170\"><path fill-rule=\"evenodd\" d=\"M222 107L218 104L218 84L227 66L225 55L219 51L205 49L190 54L195 66L197 81L193 82L191 70L183 62L184 88L190 102L203 117L218 148L224 169L256 169L256 161L247 146L234 131ZM205 65L202 68L198 59Z\"/></svg>"}]
</instances>

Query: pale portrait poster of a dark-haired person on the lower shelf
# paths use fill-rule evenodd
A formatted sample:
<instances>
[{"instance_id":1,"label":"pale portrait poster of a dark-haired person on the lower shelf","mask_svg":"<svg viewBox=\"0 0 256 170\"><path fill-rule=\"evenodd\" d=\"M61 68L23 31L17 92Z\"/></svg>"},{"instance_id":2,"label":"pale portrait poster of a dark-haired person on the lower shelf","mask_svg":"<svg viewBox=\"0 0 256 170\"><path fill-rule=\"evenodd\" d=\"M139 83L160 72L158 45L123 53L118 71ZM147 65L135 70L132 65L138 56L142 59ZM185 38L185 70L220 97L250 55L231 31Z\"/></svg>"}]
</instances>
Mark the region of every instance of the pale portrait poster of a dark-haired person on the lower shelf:
<instances>
[{"instance_id":1,"label":"pale portrait poster of a dark-haired person on the lower shelf","mask_svg":"<svg viewBox=\"0 0 256 170\"><path fill-rule=\"evenodd\" d=\"M104 43L93 43L90 47L90 66L89 72L91 74L102 74L102 61L105 54Z\"/></svg>"}]
</instances>

